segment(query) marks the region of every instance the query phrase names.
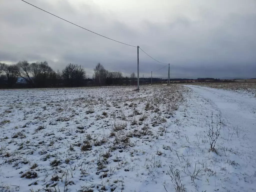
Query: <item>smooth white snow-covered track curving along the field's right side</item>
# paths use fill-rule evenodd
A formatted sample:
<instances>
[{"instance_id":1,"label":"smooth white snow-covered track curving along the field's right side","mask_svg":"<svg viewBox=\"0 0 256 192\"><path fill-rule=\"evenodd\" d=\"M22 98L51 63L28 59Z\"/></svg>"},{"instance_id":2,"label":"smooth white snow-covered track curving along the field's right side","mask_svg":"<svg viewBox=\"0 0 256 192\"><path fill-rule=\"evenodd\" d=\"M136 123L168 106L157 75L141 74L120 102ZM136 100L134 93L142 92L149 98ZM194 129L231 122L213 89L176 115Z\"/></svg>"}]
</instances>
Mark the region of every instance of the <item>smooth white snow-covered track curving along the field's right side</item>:
<instances>
[{"instance_id":1,"label":"smooth white snow-covered track curving along the field's right side","mask_svg":"<svg viewBox=\"0 0 256 192\"><path fill-rule=\"evenodd\" d=\"M187 86L202 97L212 101L222 118L243 130L252 147L256 148L256 99L247 94L239 94L221 89L201 86ZM241 135L242 136L242 135Z\"/></svg>"}]
</instances>

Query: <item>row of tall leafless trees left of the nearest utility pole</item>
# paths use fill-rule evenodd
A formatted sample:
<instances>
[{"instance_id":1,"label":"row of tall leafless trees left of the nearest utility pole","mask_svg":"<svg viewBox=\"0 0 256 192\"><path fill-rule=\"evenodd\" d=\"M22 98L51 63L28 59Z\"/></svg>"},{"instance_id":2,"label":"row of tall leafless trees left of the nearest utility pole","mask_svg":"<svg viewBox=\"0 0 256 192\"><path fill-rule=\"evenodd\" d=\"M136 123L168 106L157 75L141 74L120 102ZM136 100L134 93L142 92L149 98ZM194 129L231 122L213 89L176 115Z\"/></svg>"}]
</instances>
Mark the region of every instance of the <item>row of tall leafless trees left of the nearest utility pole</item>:
<instances>
[{"instance_id":1,"label":"row of tall leafless trees left of the nearest utility pole","mask_svg":"<svg viewBox=\"0 0 256 192\"><path fill-rule=\"evenodd\" d=\"M3 71L5 72L4 74ZM95 81L99 86L121 84L124 80L121 72L108 71L100 63L95 66L92 77L93 79L91 80ZM16 65L11 65L11 67L5 63L0 63L0 84L2 87L6 87L6 85L12 86L17 79L19 79L19 82L26 82L26 84L20 85L34 88L52 87L56 86L56 84L58 86L65 84L71 87L87 86L89 81L84 68L73 63L69 63L61 72L55 72L47 61L33 63L19 61ZM132 79L135 79L135 73L133 73ZM128 84L127 82L129 82L129 78L126 78L126 84Z\"/></svg>"}]
</instances>

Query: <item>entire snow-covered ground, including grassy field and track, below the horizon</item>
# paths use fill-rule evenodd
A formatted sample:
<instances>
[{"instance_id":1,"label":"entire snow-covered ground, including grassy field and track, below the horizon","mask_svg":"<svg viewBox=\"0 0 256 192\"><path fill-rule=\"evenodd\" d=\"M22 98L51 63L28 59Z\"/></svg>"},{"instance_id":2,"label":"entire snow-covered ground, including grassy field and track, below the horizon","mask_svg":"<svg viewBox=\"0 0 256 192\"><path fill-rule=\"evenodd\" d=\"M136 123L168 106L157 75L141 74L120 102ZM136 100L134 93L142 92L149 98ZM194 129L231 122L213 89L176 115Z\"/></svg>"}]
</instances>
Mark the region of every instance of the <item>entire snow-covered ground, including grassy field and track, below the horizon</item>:
<instances>
[{"instance_id":1,"label":"entire snow-covered ground, including grassy field and track, below the horizon","mask_svg":"<svg viewBox=\"0 0 256 192\"><path fill-rule=\"evenodd\" d=\"M0 93L0 191L256 191L250 94L192 85ZM209 130L218 135L210 152Z\"/></svg>"}]
</instances>

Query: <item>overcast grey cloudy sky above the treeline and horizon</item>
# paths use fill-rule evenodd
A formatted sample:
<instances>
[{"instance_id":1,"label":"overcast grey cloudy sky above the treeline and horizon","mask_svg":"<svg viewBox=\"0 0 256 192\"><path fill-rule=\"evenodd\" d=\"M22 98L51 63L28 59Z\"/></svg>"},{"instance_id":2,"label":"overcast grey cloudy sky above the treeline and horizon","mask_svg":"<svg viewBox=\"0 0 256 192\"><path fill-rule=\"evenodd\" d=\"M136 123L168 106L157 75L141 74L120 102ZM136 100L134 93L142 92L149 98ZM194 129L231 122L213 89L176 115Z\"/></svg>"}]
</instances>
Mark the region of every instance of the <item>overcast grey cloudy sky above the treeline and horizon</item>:
<instances>
[{"instance_id":1,"label":"overcast grey cloudy sky above the treeline and horizon","mask_svg":"<svg viewBox=\"0 0 256 192\"><path fill-rule=\"evenodd\" d=\"M96 33L140 46L171 78L256 78L254 0L26 0ZM0 62L100 62L137 72L137 48L105 39L20 0L0 0ZM140 76L164 67L140 51ZM168 67L153 72L167 78ZM148 77L151 74L147 75Z\"/></svg>"}]
</instances>

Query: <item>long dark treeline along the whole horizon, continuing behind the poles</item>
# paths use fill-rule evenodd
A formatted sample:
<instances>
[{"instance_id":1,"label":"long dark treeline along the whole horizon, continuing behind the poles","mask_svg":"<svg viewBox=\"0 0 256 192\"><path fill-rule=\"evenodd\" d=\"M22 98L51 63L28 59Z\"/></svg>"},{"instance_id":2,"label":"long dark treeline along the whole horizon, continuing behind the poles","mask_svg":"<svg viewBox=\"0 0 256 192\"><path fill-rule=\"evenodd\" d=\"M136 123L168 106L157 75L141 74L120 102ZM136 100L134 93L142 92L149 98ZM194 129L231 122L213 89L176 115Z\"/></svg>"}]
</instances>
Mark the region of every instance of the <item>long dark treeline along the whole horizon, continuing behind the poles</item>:
<instances>
[{"instance_id":1,"label":"long dark treeline along the whole horizon, continuing behind the poles","mask_svg":"<svg viewBox=\"0 0 256 192\"><path fill-rule=\"evenodd\" d=\"M171 83L221 81L214 78L170 79ZM226 80L231 81L231 80ZM151 78L140 78L140 84L151 83ZM152 78L152 83L167 83L167 79ZM92 78L89 78L81 65L69 63L62 71L54 71L47 63L19 61L14 65L0 63L0 88L46 88L136 85L137 77L131 73L123 77L119 71L108 71L98 63Z\"/></svg>"}]
</instances>

